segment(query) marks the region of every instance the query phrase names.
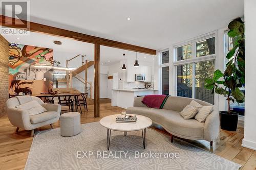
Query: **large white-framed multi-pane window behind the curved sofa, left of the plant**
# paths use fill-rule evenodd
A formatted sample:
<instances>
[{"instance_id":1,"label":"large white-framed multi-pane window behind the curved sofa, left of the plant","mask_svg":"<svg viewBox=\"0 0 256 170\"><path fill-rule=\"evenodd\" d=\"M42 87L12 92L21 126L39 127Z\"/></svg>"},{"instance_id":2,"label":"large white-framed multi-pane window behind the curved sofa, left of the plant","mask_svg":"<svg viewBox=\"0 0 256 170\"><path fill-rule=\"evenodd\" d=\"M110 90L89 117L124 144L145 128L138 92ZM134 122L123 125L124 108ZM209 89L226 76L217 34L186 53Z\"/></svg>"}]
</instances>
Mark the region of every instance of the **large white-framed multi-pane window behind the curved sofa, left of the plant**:
<instances>
[{"instance_id":1,"label":"large white-framed multi-pane window behind the curved sofa, left of the plant","mask_svg":"<svg viewBox=\"0 0 256 170\"><path fill-rule=\"evenodd\" d=\"M214 104L214 94L204 88L204 79L215 70L215 37L200 38L176 48L177 96Z\"/></svg>"}]
</instances>

